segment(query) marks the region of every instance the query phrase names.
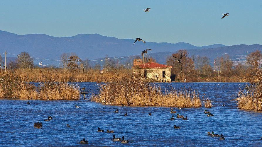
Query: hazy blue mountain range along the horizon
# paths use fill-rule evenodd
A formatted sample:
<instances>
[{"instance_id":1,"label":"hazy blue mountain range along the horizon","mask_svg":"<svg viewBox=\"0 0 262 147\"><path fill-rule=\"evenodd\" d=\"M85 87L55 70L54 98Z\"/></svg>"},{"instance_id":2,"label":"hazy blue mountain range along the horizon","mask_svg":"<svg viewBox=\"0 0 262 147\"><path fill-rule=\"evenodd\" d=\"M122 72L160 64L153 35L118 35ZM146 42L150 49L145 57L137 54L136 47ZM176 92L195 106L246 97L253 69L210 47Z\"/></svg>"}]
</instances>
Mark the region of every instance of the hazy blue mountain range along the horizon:
<instances>
[{"instance_id":1,"label":"hazy blue mountain range along the horizon","mask_svg":"<svg viewBox=\"0 0 262 147\"><path fill-rule=\"evenodd\" d=\"M146 38L143 38L146 41ZM197 47L185 42L136 42L135 39L118 39L99 34L78 34L72 37L53 37L45 34L17 35L0 30L0 54L7 53L19 54L23 51L28 52L31 57L42 59L60 60L62 53L75 52L81 59L103 59L108 57L124 57L136 54L147 48L153 49L148 55L154 57L159 63L164 64L166 57L179 49L187 49L189 55L207 56L210 59L221 56L222 54L243 55L256 49L262 50L261 45L233 45L225 46L221 44ZM8 54L8 57L16 57ZM3 56L3 55L2 55ZM43 64L58 65L59 61L39 60Z\"/></svg>"}]
</instances>

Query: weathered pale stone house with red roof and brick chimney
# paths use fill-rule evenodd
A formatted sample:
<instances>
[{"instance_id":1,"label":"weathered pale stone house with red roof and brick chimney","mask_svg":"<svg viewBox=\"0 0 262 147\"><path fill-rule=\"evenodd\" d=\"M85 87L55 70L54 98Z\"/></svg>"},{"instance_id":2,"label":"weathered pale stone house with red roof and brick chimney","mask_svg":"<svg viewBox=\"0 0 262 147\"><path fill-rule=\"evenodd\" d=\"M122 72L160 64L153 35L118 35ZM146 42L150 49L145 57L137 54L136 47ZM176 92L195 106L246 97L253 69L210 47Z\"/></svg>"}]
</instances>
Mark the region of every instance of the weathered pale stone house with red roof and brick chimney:
<instances>
[{"instance_id":1,"label":"weathered pale stone house with red roof and brick chimney","mask_svg":"<svg viewBox=\"0 0 262 147\"><path fill-rule=\"evenodd\" d=\"M171 82L172 66L148 62L143 64L142 59L134 59L133 74L136 78L149 79L158 82Z\"/></svg>"}]
</instances>

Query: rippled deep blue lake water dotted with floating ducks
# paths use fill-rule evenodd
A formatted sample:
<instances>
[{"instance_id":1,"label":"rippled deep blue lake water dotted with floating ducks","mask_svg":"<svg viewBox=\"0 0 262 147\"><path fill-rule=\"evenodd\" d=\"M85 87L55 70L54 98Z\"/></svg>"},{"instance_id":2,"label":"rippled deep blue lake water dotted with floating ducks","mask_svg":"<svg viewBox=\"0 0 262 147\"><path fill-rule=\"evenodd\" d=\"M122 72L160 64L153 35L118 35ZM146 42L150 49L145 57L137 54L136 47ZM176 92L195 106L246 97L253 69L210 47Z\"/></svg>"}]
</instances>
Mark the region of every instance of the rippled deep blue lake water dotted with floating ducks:
<instances>
[{"instance_id":1,"label":"rippled deep blue lake water dotted with floating ducks","mask_svg":"<svg viewBox=\"0 0 262 147\"><path fill-rule=\"evenodd\" d=\"M188 120L170 120L170 107L111 106L89 100L0 100L0 146L262 146L262 113L239 110L234 98L246 83L157 83L165 89L191 88L207 95L214 114L204 107L174 110ZM97 83L80 83L85 91L98 93ZM226 106L222 106L225 103ZM75 104L80 108L75 108ZM119 113L114 110L119 109ZM125 113L128 116L124 116ZM148 116L148 113L152 116ZM43 121L51 115L53 120ZM176 114L175 114L176 115ZM34 122L43 129L34 129ZM70 124L70 128L66 127ZM174 125L181 129L174 129ZM114 133L97 132L97 128ZM207 135L223 134L225 140ZM125 136L128 144L113 142ZM79 143L83 138L87 145Z\"/></svg>"}]
</instances>

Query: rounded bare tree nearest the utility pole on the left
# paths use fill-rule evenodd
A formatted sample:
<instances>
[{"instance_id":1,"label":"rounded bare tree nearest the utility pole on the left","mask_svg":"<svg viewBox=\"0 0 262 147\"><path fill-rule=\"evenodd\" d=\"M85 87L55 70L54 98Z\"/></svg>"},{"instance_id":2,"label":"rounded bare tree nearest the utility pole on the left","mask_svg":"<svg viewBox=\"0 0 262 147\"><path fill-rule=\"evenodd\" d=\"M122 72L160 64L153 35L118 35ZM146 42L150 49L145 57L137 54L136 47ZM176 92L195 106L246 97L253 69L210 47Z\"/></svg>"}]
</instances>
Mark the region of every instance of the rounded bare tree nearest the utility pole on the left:
<instances>
[{"instance_id":1,"label":"rounded bare tree nearest the utility pole on the left","mask_svg":"<svg viewBox=\"0 0 262 147\"><path fill-rule=\"evenodd\" d=\"M28 52L21 52L17 55L17 63L20 68L33 68L34 60Z\"/></svg>"}]
</instances>

